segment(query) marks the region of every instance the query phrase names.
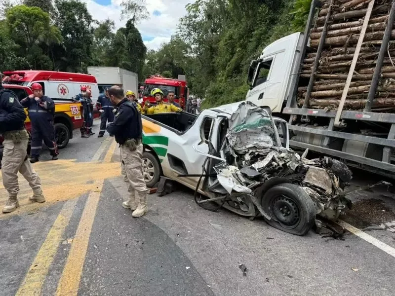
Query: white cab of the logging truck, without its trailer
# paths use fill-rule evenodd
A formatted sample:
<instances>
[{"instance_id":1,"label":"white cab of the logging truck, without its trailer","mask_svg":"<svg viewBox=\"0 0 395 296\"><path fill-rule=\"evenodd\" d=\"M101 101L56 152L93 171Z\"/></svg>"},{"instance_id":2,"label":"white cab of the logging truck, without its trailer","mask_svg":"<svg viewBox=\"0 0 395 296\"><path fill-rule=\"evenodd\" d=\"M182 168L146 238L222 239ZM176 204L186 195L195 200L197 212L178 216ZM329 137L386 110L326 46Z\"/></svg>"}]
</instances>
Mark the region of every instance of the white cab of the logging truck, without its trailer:
<instances>
[{"instance_id":1,"label":"white cab of the logging truck, without its trailer","mask_svg":"<svg viewBox=\"0 0 395 296\"><path fill-rule=\"evenodd\" d=\"M297 83L298 61L303 33L294 33L268 45L258 60L251 62L246 100L257 106L268 106L273 113L281 112Z\"/></svg>"}]
</instances>

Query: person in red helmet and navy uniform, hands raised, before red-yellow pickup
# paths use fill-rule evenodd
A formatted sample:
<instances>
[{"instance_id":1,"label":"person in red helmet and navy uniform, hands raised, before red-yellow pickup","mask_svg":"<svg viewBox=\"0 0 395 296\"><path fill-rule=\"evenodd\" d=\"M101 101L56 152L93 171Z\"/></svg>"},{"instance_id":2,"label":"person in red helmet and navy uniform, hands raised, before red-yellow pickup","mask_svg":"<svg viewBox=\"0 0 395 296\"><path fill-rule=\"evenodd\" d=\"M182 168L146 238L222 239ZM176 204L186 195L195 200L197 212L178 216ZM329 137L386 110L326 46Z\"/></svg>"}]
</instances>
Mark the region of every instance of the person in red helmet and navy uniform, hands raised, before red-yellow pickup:
<instances>
[{"instance_id":1,"label":"person in red helmet and navy uniform, hands raised, before red-yellow pickup","mask_svg":"<svg viewBox=\"0 0 395 296\"><path fill-rule=\"evenodd\" d=\"M33 94L21 101L23 107L28 109L29 118L32 122L32 147L30 162L39 161L41 143L48 147L52 160L58 159L58 147L55 141L55 127L53 115L55 114L55 103L51 98L44 96L40 83L31 86Z\"/></svg>"}]
</instances>

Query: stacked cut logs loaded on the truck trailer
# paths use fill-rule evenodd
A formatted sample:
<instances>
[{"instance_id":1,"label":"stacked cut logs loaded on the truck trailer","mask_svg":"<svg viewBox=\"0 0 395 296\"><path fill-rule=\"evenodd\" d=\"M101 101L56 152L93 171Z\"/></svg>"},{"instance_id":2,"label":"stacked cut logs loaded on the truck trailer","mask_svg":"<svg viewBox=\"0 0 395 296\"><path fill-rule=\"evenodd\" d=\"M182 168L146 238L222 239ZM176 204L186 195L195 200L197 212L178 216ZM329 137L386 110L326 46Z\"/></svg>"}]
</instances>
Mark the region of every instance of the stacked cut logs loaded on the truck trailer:
<instances>
[{"instance_id":1,"label":"stacked cut logs loaded on the truck trailer","mask_svg":"<svg viewBox=\"0 0 395 296\"><path fill-rule=\"evenodd\" d=\"M331 1L322 2L323 6L310 33L310 46L315 51L318 48ZM319 57L313 90L308 100L309 108L325 110L338 108L369 2L370 0L333 1L323 51ZM391 5L392 0L375 0L344 110L364 109ZM372 111L395 111L395 24L390 40ZM315 58L316 52L306 55L301 77L310 78ZM300 86L298 92L298 105L302 106L307 84Z\"/></svg>"}]
</instances>

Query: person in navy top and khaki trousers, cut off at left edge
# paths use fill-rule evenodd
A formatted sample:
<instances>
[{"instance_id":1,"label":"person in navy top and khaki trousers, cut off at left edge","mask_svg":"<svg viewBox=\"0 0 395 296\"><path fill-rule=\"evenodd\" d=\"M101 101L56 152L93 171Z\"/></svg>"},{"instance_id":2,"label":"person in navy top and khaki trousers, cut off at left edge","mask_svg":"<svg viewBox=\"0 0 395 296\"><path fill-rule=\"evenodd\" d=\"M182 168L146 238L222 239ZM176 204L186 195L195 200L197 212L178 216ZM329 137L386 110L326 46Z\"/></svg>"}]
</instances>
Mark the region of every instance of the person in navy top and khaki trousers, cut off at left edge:
<instances>
[{"instance_id":1,"label":"person in navy top and khaki trousers, cut off at left edge","mask_svg":"<svg viewBox=\"0 0 395 296\"><path fill-rule=\"evenodd\" d=\"M33 170L26 152L29 134L25 129L25 119L25 111L16 94L4 89L0 81L0 133L4 136L1 176L4 188L8 191L8 201L2 210L3 213L13 212L19 207L18 172L33 189L33 196L29 199L39 203L45 201L40 177Z\"/></svg>"}]
</instances>

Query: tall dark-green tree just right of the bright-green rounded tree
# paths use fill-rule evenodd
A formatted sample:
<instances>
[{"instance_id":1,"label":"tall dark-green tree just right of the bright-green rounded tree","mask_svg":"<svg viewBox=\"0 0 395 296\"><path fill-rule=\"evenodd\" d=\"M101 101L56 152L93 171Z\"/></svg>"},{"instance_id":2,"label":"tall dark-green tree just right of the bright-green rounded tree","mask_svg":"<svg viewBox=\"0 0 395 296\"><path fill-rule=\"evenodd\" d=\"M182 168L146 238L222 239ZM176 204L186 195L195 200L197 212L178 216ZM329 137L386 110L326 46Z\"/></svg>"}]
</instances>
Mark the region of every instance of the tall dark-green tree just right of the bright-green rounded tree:
<instances>
[{"instance_id":1,"label":"tall dark-green tree just right of the bright-green rounded tree","mask_svg":"<svg viewBox=\"0 0 395 296\"><path fill-rule=\"evenodd\" d=\"M63 43L52 49L57 70L86 72L92 60L92 22L86 3L55 0L54 23L63 37Z\"/></svg>"}]
</instances>

